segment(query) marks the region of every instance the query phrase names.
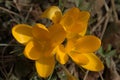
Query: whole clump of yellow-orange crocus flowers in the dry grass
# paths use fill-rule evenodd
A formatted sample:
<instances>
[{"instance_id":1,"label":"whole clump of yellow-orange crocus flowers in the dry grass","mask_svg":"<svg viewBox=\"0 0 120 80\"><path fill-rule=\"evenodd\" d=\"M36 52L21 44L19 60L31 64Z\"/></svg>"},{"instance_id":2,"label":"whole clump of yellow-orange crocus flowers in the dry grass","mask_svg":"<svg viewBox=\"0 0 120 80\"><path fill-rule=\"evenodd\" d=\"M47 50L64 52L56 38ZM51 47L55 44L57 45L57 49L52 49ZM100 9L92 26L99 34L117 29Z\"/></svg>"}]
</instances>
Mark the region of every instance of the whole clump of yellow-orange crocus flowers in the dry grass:
<instances>
[{"instance_id":1,"label":"whole clump of yellow-orange crocus flowers in the dry grass","mask_svg":"<svg viewBox=\"0 0 120 80\"><path fill-rule=\"evenodd\" d=\"M25 45L24 55L35 60L36 70L41 77L48 77L53 72L55 60L66 64L69 58L87 70L103 70L102 62L94 54L101 40L93 35L85 35L90 17L87 11L74 7L62 15L57 6L51 6L41 17L52 20L53 24L48 28L40 23L33 26L18 24L12 29L14 38Z\"/></svg>"}]
</instances>

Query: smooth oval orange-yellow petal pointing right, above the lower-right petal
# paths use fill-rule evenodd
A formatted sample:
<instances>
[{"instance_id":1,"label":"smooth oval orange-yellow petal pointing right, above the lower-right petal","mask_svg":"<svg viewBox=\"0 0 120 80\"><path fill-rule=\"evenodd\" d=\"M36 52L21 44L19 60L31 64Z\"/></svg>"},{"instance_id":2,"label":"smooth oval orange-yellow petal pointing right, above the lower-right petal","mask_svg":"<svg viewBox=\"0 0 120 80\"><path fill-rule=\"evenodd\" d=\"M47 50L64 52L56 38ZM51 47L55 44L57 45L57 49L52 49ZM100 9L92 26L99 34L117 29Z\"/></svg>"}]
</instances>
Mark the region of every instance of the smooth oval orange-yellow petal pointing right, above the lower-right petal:
<instances>
[{"instance_id":1,"label":"smooth oval orange-yellow petal pointing right, above the lower-right petal","mask_svg":"<svg viewBox=\"0 0 120 80\"><path fill-rule=\"evenodd\" d=\"M99 49L101 40L95 36L83 36L76 42L76 50L80 52L95 52Z\"/></svg>"}]
</instances>

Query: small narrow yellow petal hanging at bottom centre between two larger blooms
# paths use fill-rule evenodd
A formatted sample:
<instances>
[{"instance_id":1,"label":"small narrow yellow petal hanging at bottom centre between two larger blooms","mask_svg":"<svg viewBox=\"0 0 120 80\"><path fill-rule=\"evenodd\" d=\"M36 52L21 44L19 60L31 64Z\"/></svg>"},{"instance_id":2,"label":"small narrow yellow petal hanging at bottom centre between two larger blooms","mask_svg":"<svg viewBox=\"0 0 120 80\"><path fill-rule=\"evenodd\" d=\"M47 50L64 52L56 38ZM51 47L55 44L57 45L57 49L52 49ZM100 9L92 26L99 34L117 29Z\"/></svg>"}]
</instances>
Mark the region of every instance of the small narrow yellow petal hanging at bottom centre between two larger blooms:
<instances>
[{"instance_id":1,"label":"small narrow yellow petal hanging at bottom centre between two larger blooms","mask_svg":"<svg viewBox=\"0 0 120 80\"><path fill-rule=\"evenodd\" d=\"M68 55L65 52L65 48L63 45L60 45L56 49L56 59L61 63L65 64L68 61Z\"/></svg>"}]
</instances>

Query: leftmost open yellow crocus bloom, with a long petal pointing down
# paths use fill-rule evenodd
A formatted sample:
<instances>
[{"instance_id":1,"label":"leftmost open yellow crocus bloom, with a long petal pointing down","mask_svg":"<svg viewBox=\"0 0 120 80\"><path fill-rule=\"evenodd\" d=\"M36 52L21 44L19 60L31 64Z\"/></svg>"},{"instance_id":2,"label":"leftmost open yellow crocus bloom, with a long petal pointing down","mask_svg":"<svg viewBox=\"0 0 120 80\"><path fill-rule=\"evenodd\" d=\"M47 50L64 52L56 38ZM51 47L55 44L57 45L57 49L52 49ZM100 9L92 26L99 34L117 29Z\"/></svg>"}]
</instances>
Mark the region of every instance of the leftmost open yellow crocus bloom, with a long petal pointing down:
<instances>
[{"instance_id":1,"label":"leftmost open yellow crocus bloom, with a long petal pointing down","mask_svg":"<svg viewBox=\"0 0 120 80\"><path fill-rule=\"evenodd\" d=\"M35 66L41 77L48 77L54 70L54 49L60 45L66 36L60 24L46 28L42 24L33 27L26 24L15 25L12 29L14 38L25 45L24 55L35 60Z\"/></svg>"}]
</instances>

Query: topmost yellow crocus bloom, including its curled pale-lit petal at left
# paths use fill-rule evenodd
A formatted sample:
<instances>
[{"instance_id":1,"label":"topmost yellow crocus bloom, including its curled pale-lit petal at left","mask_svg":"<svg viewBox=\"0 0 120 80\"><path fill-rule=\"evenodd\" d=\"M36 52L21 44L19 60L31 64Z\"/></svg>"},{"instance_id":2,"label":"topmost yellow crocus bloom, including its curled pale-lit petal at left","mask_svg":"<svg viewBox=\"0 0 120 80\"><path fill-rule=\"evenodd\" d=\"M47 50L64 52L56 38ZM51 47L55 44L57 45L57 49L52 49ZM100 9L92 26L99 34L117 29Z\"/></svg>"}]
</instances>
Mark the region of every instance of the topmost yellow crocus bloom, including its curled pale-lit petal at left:
<instances>
[{"instance_id":1,"label":"topmost yellow crocus bloom, including its curled pale-lit petal at left","mask_svg":"<svg viewBox=\"0 0 120 80\"><path fill-rule=\"evenodd\" d=\"M67 38L69 38L76 33L84 36L90 14L88 11L80 11L79 8L73 7L62 15L61 10L57 6L51 6L43 12L41 17L48 18L53 23L60 23L65 28Z\"/></svg>"}]
</instances>

